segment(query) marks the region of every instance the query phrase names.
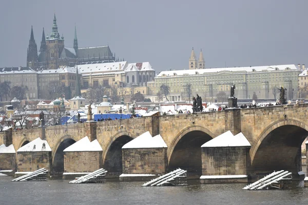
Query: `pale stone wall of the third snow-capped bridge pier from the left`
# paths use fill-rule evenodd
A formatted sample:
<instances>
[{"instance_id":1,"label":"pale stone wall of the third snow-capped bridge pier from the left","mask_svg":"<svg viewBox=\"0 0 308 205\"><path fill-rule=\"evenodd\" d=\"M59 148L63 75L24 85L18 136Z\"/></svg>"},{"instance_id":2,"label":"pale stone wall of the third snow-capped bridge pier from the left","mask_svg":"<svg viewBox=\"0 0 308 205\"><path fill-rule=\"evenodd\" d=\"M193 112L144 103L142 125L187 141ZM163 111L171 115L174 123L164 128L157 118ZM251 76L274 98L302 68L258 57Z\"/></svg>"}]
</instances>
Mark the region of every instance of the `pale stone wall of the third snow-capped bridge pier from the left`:
<instances>
[{"instance_id":1,"label":"pale stone wall of the third snow-capped bridge pier from the left","mask_svg":"<svg viewBox=\"0 0 308 205\"><path fill-rule=\"evenodd\" d=\"M100 168L102 168L102 152L65 152L64 154L64 172L94 172Z\"/></svg>"}]
</instances>

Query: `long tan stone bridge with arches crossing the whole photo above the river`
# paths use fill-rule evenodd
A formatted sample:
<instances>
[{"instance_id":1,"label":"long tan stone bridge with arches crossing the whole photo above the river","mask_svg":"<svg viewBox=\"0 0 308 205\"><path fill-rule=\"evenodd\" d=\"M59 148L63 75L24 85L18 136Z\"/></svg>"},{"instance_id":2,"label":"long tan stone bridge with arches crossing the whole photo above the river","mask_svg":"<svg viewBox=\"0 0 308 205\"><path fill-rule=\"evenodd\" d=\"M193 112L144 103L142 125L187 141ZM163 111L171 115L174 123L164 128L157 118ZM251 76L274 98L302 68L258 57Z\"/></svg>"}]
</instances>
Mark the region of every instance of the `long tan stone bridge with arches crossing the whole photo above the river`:
<instances>
[{"instance_id":1,"label":"long tan stone bridge with arches crossing the whole photo above the river","mask_svg":"<svg viewBox=\"0 0 308 205\"><path fill-rule=\"evenodd\" d=\"M247 173L301 170L301 144L308 136L308 104L226 109L215 112L149 116L86 122L0 133L0 145L15 150L41 137L52 149L52 169L63 172L63 150L84 136L97 139L103 149L104 169L122 172L121 148L146 131L166 142L166 169L184 168L201 173L201 145L230 130L247 138L251 148Z\"/></svg>"}]
</instances>

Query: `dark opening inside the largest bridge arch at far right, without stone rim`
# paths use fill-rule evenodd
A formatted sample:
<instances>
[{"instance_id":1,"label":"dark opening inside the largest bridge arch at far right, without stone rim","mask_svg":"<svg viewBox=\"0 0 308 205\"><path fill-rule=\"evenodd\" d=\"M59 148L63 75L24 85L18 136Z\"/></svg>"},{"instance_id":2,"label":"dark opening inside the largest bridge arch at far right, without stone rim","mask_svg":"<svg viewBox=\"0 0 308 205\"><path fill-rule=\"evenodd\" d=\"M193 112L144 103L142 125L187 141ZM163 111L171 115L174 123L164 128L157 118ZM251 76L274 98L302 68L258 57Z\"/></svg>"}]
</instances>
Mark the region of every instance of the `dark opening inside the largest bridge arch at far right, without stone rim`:
<instances>
[{"instance_id":1,"label":"dark opening inside the largest bridge arch at far right, without stone rim","mask_svg":"<svg viewBox=\"0 0 308 205\"><path fill-rule=\"evenodd\" d=\"M286 170L301 171L301 144L308 131L295 126L284 125L269 132L253 153L252 168L256 174Z\"/></svg>"}]
</instances>

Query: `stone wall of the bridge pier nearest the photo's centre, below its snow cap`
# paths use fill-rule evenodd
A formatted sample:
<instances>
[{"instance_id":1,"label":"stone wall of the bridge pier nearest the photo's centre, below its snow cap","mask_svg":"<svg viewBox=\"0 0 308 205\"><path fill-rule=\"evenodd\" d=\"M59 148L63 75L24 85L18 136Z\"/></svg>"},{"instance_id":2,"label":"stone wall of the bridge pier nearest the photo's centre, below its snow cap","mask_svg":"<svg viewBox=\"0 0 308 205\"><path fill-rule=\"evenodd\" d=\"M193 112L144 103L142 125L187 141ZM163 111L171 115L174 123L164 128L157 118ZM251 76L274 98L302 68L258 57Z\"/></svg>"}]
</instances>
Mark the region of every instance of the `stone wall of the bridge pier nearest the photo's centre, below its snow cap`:
<instances>
[{"instance_id":1,"label":"stone wall of the bridge pier nearest the photo's centre, below its snow cap","mask_svg":"<svg viewBox=\"0 0 308 205\"><path fill-rule=\"evenodd\" d=\"M123 174L164 174L166 148L122 149Z\"/></svg>"}]
</instances>

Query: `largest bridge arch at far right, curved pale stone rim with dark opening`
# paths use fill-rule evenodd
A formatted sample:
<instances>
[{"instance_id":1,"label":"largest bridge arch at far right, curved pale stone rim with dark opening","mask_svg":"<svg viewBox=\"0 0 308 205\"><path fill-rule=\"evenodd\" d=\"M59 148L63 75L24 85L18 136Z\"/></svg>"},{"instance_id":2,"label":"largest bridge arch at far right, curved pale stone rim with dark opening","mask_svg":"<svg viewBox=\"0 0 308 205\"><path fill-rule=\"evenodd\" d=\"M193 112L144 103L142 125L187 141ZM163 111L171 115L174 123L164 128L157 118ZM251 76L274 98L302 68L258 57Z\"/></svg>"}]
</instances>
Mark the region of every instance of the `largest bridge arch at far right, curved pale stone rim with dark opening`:
<instances>
[{"instance_id":1,"label":"largest bridge arch at far right, curved pale stone rim with dark opening","mask_svg":"<svg viewBox=\"0 0 308 205\"><path fill-rule=\"evenodd\" d=\"M271 164L277 165L275 170L283 168L293 172L300 171L300 145L307 136L308 126L298 119L288 118L274 121L261 132L255 140L255 145L251 148L252 169L256 173L258 171L260 173L272 171L268 165L268 170L262 171L260 168L260 161L263 160L264 166L266 166L265 161L272 160ZM291 161L294 161L293 165L290 165Z\"/></svg>"}]
</instances>

